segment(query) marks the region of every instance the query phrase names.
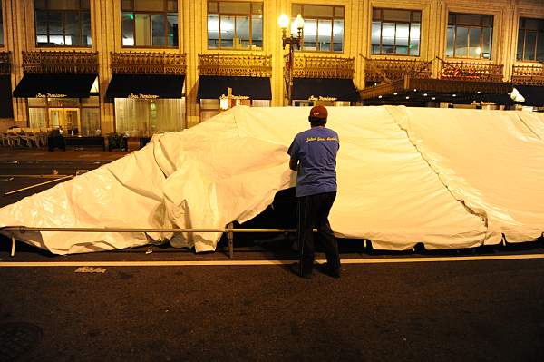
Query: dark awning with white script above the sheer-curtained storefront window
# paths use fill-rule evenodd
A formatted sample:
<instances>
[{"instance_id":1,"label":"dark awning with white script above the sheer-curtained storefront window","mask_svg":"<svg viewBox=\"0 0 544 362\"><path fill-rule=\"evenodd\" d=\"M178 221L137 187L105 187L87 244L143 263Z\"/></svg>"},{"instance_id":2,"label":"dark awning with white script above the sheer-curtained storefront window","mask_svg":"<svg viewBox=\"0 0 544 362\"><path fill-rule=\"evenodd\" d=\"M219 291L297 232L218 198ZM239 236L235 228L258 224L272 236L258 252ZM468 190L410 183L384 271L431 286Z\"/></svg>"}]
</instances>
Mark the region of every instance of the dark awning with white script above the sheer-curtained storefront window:
<instances>
[{"instance_id":1,"label":"dark awning with white script above the sheer-curtained storefront window","mask_svg":"<svg viewBox=\"0 0 544 362\"><path fill-rule=\"evenodd\" d=\"M181 98L185 75L113 74L108 98Z\"/></svg>"}]
</instances>

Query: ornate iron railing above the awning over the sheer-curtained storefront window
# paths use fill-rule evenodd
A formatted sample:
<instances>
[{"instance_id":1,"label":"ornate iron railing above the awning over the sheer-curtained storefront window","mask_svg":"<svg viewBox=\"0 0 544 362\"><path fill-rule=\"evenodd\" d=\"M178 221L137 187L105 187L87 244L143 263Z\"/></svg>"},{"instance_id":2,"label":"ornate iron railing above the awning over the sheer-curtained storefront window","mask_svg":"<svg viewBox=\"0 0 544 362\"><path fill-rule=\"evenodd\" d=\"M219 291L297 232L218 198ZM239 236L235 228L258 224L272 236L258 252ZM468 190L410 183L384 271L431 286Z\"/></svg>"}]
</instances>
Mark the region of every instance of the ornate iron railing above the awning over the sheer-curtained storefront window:
<instances>
[{"instance_id":1,"label":"ornate iron railing above the awning over the sheer-curtained storefront window","mask_svg":"<svg viewBox=\"0 0 544 362\"><path fill-rule=\"evenodd\" d=\"M110 53L112 73L118 74L175 74L184 75L187 68L185 54L122 52Z\"/></svg>"}]
</instances>

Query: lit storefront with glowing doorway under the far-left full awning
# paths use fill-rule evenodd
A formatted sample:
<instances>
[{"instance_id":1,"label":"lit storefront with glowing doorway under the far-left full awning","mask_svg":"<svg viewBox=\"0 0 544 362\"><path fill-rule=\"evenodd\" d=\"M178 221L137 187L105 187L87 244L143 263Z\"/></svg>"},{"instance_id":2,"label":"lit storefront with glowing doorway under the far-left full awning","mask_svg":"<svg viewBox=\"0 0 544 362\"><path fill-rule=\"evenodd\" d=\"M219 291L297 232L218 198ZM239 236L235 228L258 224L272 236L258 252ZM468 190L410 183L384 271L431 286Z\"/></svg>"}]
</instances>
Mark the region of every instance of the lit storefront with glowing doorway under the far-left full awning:
<instances>
[{"instance_id":1,"label":"lit storefront with glowing doorway under the far-left full awning","mask_svg":"<svg viewBox=\"0 0 544 362\"><path fill-rule=\"evenodd\" d=\"M89 98L28 98L29 126L62 128L64 135L101 134L100 101Z\"/></svg>"}]
</instances>

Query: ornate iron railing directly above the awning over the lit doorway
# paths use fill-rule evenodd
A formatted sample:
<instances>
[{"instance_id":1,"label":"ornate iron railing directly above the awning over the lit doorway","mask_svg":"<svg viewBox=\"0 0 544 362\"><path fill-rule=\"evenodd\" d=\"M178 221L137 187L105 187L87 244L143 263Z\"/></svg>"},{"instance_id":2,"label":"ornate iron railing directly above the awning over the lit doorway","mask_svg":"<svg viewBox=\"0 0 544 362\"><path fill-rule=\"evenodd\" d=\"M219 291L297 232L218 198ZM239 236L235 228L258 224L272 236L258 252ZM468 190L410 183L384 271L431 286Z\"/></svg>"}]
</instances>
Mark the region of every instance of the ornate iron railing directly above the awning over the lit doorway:
<instances>
[{"instance_id":1,"label":"ornate iron railing directly above the awning over the lit doorway","mask_svg":"<svg viewBox=\"0 0 544 362\"><path fill-rule=\"evenodd\" d=\"M24 73L98 73L98 52L22 52Z\"/></svg>"}]
</instances>

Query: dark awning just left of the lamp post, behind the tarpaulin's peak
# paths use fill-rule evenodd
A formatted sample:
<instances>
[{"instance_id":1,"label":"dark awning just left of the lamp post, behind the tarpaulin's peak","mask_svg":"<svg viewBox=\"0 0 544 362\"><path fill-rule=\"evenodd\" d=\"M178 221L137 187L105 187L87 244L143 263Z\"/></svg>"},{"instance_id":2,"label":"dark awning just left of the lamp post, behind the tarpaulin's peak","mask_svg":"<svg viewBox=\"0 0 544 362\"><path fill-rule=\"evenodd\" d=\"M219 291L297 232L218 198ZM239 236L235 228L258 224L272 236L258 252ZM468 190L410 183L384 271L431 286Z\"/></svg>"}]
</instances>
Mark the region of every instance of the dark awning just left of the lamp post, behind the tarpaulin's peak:
<instances>
[{"instance_id":1,"label":"dark awning just left of the lamp post, behind the tarpaulin's peak","mask_svg":"<svg viewBox=\"0 0 544 362\"><path fill-rule=\"evenodd\" d=\"M250 99L272 99L270 78L268 77L231 77L200 75L197 99L218 99L222 94L248 96Z\"/></svg>"}]
</instances>

